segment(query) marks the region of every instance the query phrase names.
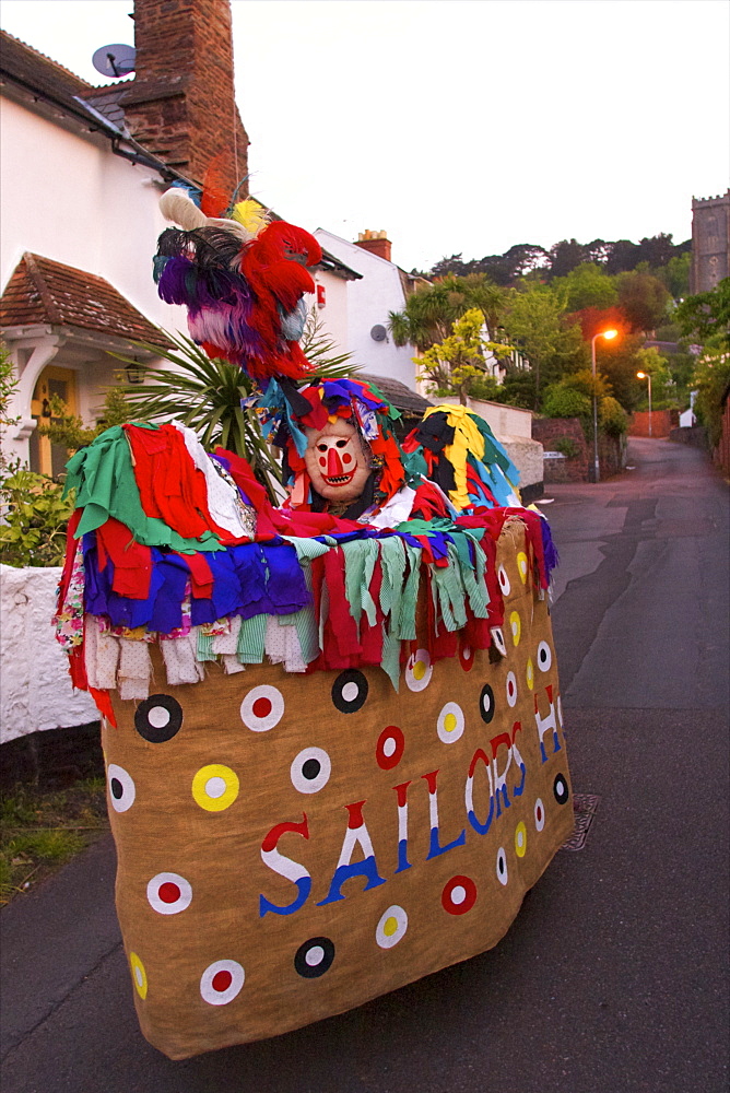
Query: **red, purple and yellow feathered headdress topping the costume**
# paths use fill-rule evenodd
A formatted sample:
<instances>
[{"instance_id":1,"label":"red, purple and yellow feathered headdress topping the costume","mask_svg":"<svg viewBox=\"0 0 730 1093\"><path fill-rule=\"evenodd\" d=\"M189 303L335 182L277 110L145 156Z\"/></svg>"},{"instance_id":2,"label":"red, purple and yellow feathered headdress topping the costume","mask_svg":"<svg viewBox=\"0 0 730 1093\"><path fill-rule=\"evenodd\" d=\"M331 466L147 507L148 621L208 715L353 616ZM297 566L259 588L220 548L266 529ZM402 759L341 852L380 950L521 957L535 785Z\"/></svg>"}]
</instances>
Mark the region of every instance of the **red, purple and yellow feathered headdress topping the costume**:
<instances>
[{"instance_id":1,"label":"red, purple and yellow feathered headdress topping the costume","mask_svg":"<svg viewBox=\"0 0 730 1093\"><path fill-rule=\"evenodd\" d=\"M160 236L157 291L188 308L190 337L209 356L239 365L259 384L302 379L311 371L297 344L303 296L315 291L307 267L321 261L320 246L302 227L269 223L251 199L220 215L221 200L178 186L163 195L163 215L179 227Z\"/></svg>"}]
</instances>

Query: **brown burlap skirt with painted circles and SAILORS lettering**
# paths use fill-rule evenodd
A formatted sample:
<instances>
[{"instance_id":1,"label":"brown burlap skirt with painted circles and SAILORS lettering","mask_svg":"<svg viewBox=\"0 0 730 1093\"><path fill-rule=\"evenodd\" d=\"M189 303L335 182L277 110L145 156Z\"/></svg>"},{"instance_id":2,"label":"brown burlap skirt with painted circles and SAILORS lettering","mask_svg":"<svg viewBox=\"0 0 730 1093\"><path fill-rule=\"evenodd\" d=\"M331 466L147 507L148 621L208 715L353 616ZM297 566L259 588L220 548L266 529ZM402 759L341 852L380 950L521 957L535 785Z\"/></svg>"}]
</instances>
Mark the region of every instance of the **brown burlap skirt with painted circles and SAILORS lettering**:
<instances>
[{"instance_id":1,"label":"brown burlap skirt with painted circles and SAILORS lettering","mask_svg":"<svg viewBox=\"0 0 730 1093\"><path fill-rule=\"evenodd\" d=\"M117 908L173 1059L273 1036L495 945L573 830L548 603L503 536L490 653L249 666L115 697ZM417 643L416 643L417 644ZM498 647L502 645L502 653Z\"/></svg>"}]
</instances>

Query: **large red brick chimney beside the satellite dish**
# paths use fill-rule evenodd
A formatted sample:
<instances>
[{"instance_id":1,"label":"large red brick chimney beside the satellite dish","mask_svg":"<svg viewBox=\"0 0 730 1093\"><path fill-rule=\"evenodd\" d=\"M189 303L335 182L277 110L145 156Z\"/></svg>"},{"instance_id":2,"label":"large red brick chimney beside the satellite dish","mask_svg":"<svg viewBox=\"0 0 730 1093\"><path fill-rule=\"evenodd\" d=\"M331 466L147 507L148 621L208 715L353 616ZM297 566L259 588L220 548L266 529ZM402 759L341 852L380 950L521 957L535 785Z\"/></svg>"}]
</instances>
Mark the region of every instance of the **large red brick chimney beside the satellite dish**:
<instances>
[{"instance_id":1,"label":"large red brick chimney beside the satellite dish","mask_svg":"<svg viewBox=\"0 0 730 1093\"><path fill-rule=\"evenodd\" d=\"M248 172L234 98L228 0L134 0L137 68L122 105L132 136L202 183L215 156L228 196ZM245 198L244 184L238 196Z\"/></svg>"}]
</instances>

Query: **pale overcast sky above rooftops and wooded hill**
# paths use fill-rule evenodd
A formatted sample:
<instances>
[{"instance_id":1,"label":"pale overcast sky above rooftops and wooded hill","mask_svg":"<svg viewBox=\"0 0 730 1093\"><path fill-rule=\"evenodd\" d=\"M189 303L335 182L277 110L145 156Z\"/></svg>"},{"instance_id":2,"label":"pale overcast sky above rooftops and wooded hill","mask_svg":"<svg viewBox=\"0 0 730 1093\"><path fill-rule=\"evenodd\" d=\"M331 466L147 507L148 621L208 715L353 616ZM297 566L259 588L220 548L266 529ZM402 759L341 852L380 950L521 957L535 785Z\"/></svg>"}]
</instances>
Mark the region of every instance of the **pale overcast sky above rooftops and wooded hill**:
<instances>
[{"instance_id":1,"label":"pale overcast sky above rooftops and wooded hill","mask_svg":"<svg viewBox=\"0 0 730 1093\"><path fill-rule=\"evenodd\" d=\"M211 2L211 0L205 0ZM233 0L251 192L393 261L691 234L730 176L726 0ZM132 0L2 0L91 82Z\"/></svg>"}]
</instances>

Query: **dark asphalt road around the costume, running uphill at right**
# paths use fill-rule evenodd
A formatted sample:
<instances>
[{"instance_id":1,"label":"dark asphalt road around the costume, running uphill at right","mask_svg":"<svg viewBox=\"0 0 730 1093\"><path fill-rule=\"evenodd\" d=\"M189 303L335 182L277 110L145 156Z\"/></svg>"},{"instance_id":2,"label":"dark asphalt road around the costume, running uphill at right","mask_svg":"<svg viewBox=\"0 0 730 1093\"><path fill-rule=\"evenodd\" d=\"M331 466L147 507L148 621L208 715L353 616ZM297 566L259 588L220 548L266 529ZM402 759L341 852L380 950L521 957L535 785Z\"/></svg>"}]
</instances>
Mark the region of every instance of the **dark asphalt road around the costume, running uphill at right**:
<instances>
[{"instance_id":1,"label":"dark asphalt road around the costume, running uphill at right","mask_svg":"<svg viewBox=\"0 0 730 1093\"><path fill-rule=\"evenodd\" d=\"M683 446L629 462L544 508L574 789L599 802L497 948L170 1062L138 1030L105 842L0 915L3 1093L725 1093L728 489Z\"/></svg>"}]
</instances>

